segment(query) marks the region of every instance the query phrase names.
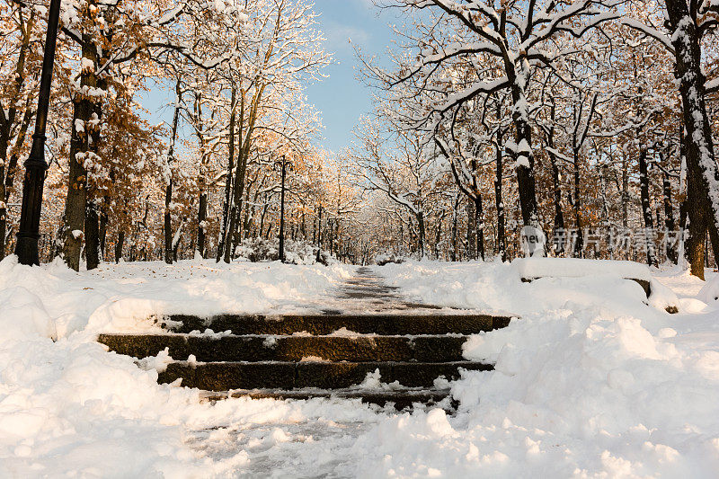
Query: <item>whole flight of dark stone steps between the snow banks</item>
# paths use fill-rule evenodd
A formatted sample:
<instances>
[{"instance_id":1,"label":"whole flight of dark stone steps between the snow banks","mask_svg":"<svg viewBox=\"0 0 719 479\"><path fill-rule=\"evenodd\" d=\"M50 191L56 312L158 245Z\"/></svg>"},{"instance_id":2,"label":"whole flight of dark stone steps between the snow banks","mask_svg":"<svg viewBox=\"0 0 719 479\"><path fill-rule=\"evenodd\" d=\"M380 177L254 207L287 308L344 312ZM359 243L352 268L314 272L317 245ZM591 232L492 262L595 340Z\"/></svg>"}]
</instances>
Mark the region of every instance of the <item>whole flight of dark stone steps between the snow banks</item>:
<instances>
[{"instance_id":1,"label":"whole flight of dark stone steps between the snow banks","mask_svg":"<svg viewBox=\"0 0 719 479\"><path fill-rule=\"evenodd\" d=\"M492 331L510 318L474 314L191 315L164 318L163 334L102 334L110 350L142 359L169 349L159 382L197 387L209 399L360 398L364 402L435 404L448 390L438 377L493 366L462 357L466 335ZM222 334L198 335L211 328ZM195 333L192 333L195 332ZM192 334L191 334L192 333ZM191 360L189 360L191 359ZM362 388L379 371L391 389Z\"/></svg>"}]
</instances>

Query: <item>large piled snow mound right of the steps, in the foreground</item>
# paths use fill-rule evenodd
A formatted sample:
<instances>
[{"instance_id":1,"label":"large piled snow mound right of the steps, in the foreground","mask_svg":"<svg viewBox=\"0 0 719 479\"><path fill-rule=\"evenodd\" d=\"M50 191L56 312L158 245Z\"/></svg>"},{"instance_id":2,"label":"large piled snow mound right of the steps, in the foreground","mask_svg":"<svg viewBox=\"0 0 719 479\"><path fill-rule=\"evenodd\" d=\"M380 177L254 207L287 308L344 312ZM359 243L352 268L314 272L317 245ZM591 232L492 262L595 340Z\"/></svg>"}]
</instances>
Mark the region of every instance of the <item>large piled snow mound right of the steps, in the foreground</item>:
<instances>
[{"instance_id":1,"label":"large piled snow mound right of the steps, in the foreground","mask_svg":"<svg viewBox=\"0 0 719 479\"><path fill-rule=\"evenodd\" d=\"M417 412L360 439L382 450L363 476L715 477L719 353L681 335L589 307L476 336L466 356L496 370L454 384L456 417Z\"/></svg>"}]
</instances>

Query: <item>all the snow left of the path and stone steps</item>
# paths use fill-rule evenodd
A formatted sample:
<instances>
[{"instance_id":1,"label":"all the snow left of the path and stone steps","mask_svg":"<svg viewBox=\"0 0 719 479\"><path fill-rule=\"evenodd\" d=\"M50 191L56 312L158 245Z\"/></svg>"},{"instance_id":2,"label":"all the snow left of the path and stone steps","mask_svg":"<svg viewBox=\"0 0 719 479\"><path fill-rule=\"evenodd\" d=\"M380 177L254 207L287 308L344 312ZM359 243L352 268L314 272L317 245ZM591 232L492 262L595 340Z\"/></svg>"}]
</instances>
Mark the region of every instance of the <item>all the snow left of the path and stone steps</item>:
<instances>
[{"instance_id":1,"label":"all the snow left of the path and stone steps","mask_svg":"<svg viewBox=\"0 0 719 479\"><path fill-rule=\"evenodd\" d=\"M209 314L227 307L261 312L324 299L349 272L339 265L201 261L105 265L78 274L59 262L29 268L5 259L0 477L223 477L252 470L253 447L214 457L204 447L206 430L247 424L246 440L271 448L283 439L268 436L265 423L321 421L324 415L371 423L375 412L357 403L200 404L197 390L156 383L152 367L161 367L162 358L140 361L145 370L94 342L107 328L152 327L150 313L186 307Z\"/></svg>"}]
</instances>

